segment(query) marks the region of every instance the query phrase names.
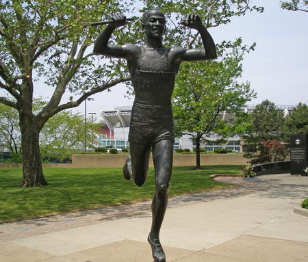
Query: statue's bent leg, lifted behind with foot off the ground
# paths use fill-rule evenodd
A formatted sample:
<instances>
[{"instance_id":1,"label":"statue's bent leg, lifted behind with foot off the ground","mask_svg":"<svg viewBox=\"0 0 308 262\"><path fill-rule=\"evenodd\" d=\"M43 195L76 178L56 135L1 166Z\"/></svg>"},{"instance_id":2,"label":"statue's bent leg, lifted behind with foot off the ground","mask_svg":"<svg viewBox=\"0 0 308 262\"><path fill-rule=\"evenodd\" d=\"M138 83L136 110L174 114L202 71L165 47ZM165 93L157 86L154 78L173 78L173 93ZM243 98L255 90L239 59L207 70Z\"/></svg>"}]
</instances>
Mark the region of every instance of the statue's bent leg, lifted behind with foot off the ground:
<instances>
[{"instance_id":1,"label":"statue's bent leg, lifted behind with foot off the ground","mask_svg":"<svg viewBox=\"0 0 308 262\"><path fill-rule=\"evenodd\" d=\"M125 166L127 167L125 168L124 166L123 173L125 175L125 171L129 171L129 176L131 176L133 182L141 187L148 176L151 147L146 144L131 143L129 148L131 157L125 163ZM127 178L125 177L125 179Z\"/></svg>"}]
</instances>

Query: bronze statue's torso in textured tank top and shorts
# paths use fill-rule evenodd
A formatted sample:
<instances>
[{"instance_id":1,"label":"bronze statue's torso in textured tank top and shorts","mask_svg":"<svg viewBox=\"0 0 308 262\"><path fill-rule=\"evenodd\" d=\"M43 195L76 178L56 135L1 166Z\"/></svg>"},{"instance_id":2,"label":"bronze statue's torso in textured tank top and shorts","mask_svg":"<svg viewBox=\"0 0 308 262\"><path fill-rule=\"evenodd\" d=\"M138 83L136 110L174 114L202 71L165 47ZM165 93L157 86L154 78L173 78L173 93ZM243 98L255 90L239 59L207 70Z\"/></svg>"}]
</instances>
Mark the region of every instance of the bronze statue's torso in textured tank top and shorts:
<instances>
[{"instance_id":1,"label":"bronze statue's torso in textured tank top and shorts","mask_svg":"<svg viewBox=\"0 0 308 262\"><path fill-rule=\"evenodd\" d=\"M170 65L170 49L140 48L137 59L129 62L129 72L135 92L129 141L174 141L171 96L177 70Z\"/></svg>"}]
</instances>

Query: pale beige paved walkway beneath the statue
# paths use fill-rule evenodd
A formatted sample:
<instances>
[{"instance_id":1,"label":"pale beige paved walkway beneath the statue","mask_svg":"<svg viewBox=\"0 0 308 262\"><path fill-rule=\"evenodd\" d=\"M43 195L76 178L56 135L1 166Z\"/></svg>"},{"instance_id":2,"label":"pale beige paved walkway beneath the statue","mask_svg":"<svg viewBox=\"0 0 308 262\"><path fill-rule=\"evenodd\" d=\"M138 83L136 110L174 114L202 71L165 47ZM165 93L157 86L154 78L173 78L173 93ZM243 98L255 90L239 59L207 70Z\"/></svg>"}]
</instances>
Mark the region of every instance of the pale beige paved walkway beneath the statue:
<instances>
[{"instance_id":1,"label":"pale beige paved walkway beneath the statue","mask_svg":"<svg viewBox=\"0 0 308 262\"><path fill-rule=\"evenodd\" d=\"M308 262L307 176L216 180L239 186L170 198L167 262ZM0 261L153 261L150 226L150 201L0 224Z\"/></svg>"}]
</instances>

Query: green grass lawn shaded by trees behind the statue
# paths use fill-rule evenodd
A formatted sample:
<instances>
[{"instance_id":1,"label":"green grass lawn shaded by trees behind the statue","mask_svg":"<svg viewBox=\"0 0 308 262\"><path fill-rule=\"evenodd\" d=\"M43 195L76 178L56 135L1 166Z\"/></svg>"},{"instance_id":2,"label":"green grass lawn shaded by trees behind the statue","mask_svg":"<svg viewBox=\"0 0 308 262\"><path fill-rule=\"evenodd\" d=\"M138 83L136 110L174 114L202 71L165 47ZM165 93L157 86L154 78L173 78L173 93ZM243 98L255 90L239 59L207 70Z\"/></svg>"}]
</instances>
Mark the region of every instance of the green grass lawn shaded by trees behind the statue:
<instances>
[{"instance_id":1,"label":"green grass lawn shaded by trees behind the statue","mask_svg":"<svg viewBox=\"0 0 308 262\"><path fill-rule=\"evenodd\" d=\"M230 186L209 175L240 174L242 166L204 168L173 168L169 195ZM45 168L44 176L46 187L21 188L21 168L0 168L0 222L148 200L154 192L153 168L142 187L123 179L122 168Z\"/></svg>"}]
</instances>

